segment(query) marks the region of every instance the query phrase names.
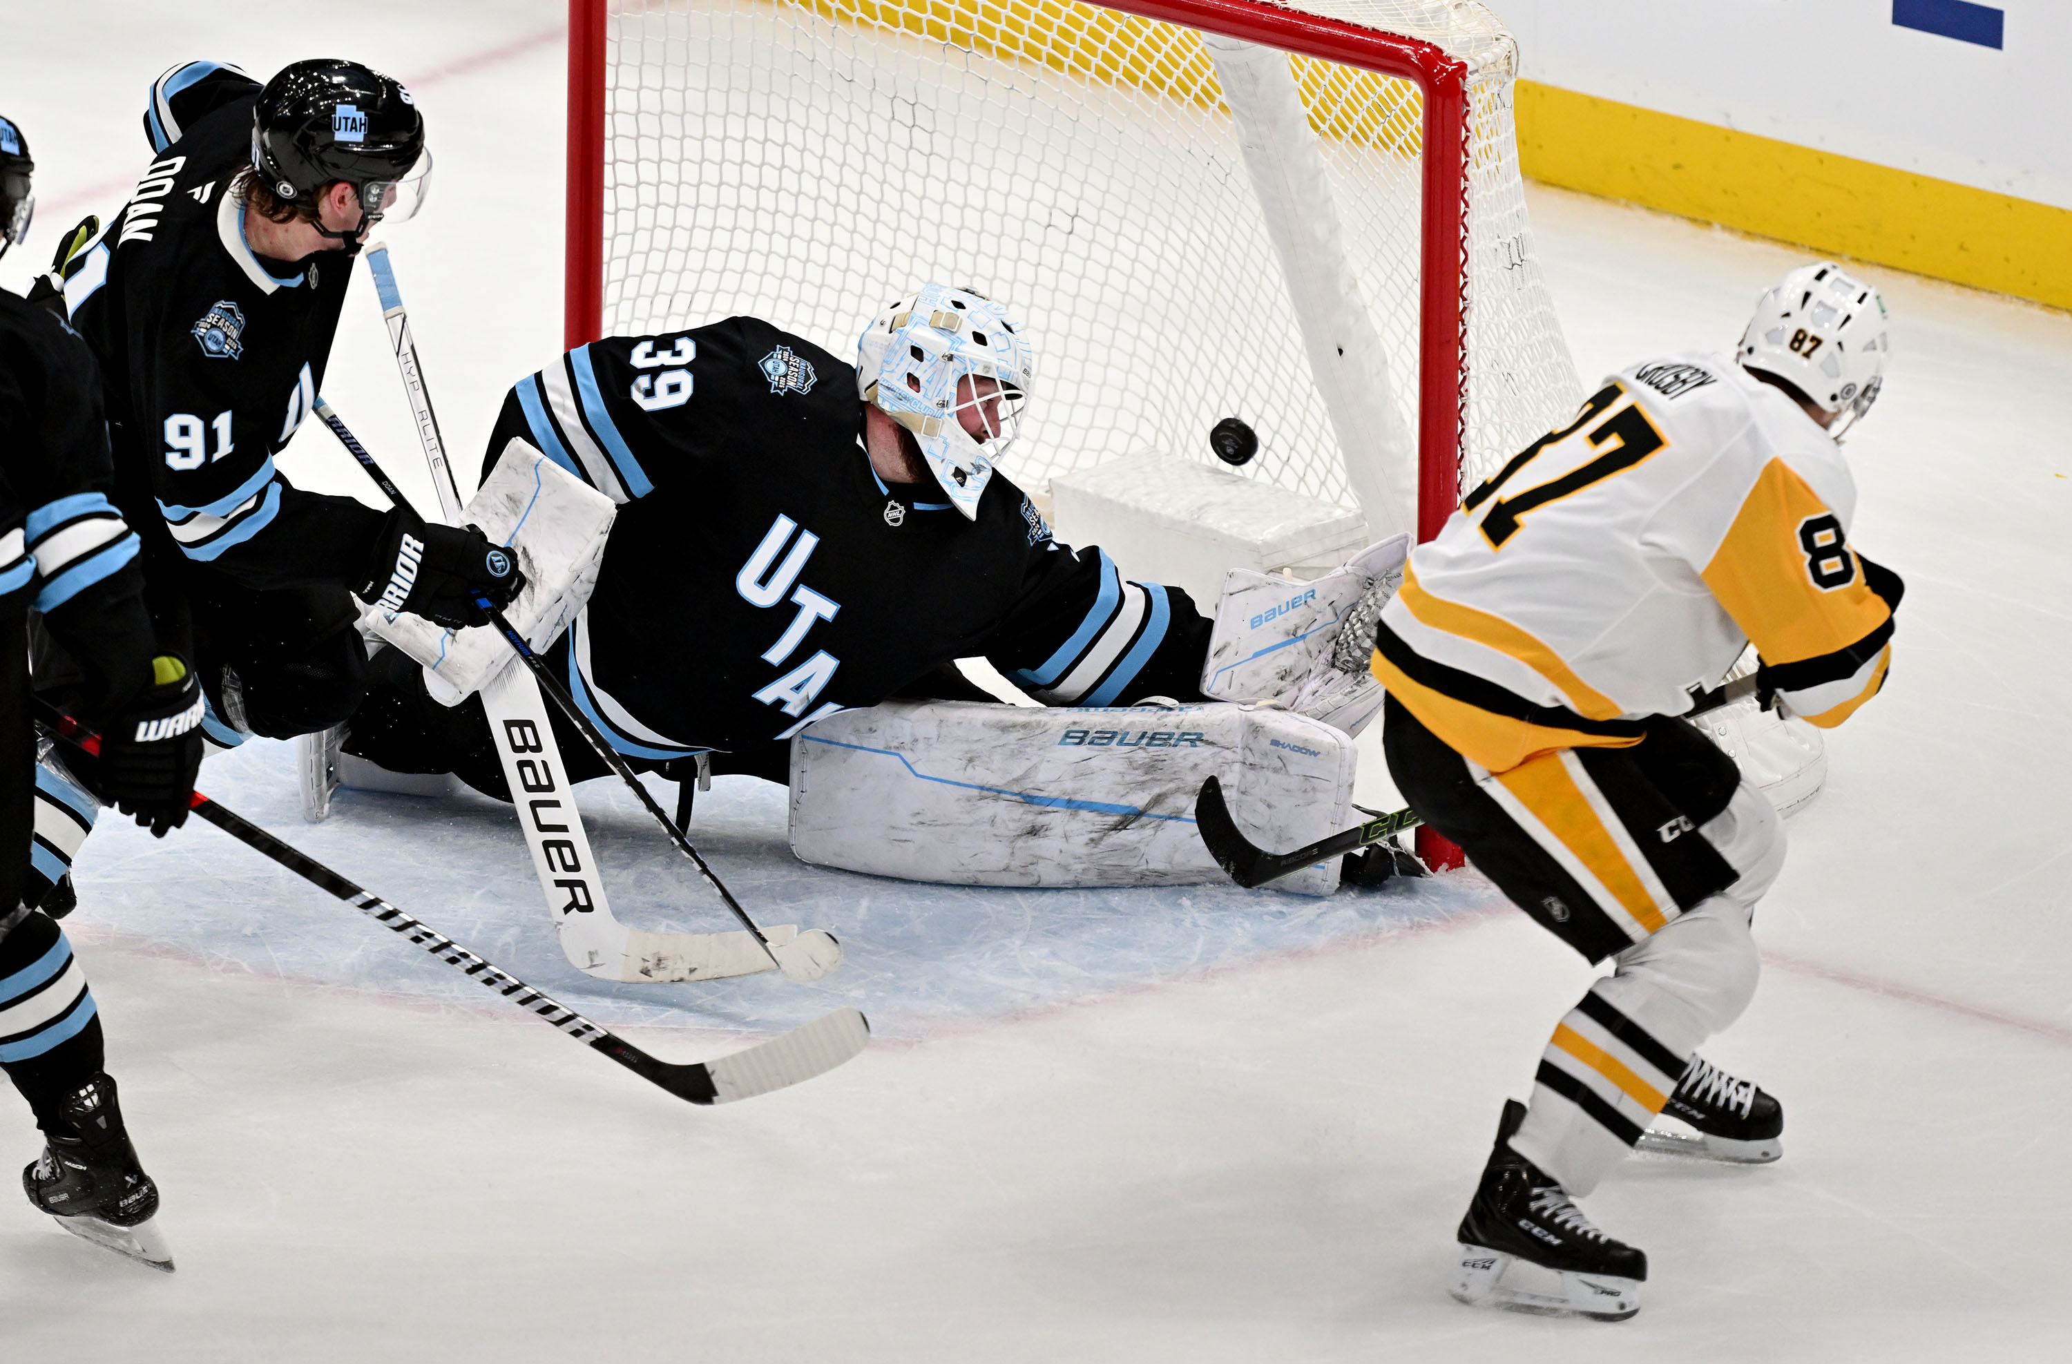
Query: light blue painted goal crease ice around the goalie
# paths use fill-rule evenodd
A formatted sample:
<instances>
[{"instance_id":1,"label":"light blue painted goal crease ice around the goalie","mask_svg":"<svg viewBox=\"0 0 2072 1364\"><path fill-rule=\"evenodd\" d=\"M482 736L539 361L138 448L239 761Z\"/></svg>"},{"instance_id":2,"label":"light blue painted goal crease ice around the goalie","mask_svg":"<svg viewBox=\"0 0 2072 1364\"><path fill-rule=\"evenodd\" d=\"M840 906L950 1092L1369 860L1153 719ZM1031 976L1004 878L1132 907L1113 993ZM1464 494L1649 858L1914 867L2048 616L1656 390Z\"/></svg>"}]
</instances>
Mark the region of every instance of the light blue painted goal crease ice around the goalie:
<instances>
[{"instance_id":1,"label":"light blue painted goal crease ice around the goalie","mask_svg":"<svg viewBox=\"0 0 2072 1364\"><path fill-rule=\"evenodd\" d=\"M651 777L673 808L673 784ZM508 804L340 790L332 817L298 815L292 748L253 740L211 759L203 790L365 889L472 947L601 1024L765 1030L852 1003L881 1039L1133 989L1262 956L1363 941L1475 912L1490 889L1442 877L1347 889L1328 900L1181 889L1019 891L918 885L792 856L785 792L715 777L692 842L762 925L827 929L841 968L816 985L765 972L704 985L595 981L568 964ZM611 910L649 931L736 927L696 869L617 779L578 788ZM77 869L81 920L220 966L292 981L425 995L508 1012L452 966L400 943L344 902L193 823L164 844L104 817Z\"/></svg>"}]
</instances>

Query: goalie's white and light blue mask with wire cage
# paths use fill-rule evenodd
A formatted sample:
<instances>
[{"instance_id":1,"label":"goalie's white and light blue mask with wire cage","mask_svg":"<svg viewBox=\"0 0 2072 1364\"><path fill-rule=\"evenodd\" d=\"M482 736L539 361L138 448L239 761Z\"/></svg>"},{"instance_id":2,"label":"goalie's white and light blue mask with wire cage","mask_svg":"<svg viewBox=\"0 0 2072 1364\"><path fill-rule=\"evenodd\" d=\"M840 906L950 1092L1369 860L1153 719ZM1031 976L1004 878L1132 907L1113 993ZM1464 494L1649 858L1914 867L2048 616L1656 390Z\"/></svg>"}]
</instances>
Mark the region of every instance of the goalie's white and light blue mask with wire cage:
<instances>
[{"instance_id":1,"label":"goalie's white and light blue mask with wire cage","mask_svg":"<svg viewBox=\"0 0 2072 1364\"><path fill-rule=\"evenodd\" d=\"M970 288L926 284L879 313L856 350L858 394L912 431L951 506L976 520L1034 375L1007 309Z\"/></svg>"}]
</instances>

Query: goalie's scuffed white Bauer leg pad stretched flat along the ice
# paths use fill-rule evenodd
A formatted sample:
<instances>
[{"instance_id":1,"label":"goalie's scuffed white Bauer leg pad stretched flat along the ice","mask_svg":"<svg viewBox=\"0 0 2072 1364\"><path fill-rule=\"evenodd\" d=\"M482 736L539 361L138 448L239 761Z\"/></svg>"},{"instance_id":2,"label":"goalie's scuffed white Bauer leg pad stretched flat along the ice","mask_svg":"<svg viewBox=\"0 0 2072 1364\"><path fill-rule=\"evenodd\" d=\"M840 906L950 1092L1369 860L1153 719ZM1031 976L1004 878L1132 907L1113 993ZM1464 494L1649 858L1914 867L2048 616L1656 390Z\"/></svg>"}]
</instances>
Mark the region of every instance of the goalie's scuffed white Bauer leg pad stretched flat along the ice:
<instances>
[{"instance_id":1,"label":"goalie's scuffed white Bauer leg pad stretched flat along the ice","mask_svg":"<svg viewBox=\"0 0 2072 1364\"><path fill-rule=\"evenodd\" d=\"M1347 825L1353 740L1249 705L893 701L792 740L792 852L947 885L1229 885L1193 825L1218 777L1268 848ZM1339 858L1276 889L1328 896Z\"/></svg>"}]
</instances>

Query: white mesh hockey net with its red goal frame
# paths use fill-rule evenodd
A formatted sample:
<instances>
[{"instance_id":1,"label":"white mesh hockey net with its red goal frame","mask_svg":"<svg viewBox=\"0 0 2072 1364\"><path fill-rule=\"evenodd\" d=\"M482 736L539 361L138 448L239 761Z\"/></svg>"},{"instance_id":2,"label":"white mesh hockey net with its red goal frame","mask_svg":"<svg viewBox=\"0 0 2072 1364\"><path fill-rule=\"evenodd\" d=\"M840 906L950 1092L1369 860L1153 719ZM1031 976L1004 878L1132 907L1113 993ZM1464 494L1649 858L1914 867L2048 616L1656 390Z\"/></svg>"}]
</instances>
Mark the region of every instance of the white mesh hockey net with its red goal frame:
<instances>
[{"instance_id":1,"label":"white mesh hockey net with its red goal frame","mask_svg":"<svg viewBox=\"0 0 2072 1364\"><path fill-rule=\"evenodd\" d=\"M570 12L572 346L750 313L852 359L891 299L966 284L1036 340L1015 481L1210 460L1241 417L1241 473L1421 537L1581 396L1517 50L1473 0ZM1231 37L1299 100L1278 131L1233 112Z\"/></svg>"}]
</instances>

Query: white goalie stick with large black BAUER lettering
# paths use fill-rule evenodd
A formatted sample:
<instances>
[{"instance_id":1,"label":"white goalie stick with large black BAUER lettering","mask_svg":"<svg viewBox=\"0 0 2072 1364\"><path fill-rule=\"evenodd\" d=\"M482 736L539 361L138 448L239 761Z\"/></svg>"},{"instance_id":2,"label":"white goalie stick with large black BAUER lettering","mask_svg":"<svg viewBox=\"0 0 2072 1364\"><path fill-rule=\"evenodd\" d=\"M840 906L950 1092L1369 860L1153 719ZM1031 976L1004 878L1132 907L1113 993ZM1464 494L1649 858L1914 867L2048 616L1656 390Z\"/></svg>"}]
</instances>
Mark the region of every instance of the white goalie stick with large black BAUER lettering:
<instances>
[{"instance_id":1,"label":"white goalie stick with large black BAUER lettering","mask_svg":"<svg viewBox=\"0 0 2072 1364\"><path fill-rule=\"evenodd\" d=\"M402 290L396 286L396 269L390 265L385 245L373 245L365 253L367 269L375 280L375 299L381 305L381 319L387 323L390 346L396 352L396 369L402 375L404 396L410 402L410 417L416 425L419 446L431 466L431 483L439 495L439 508L448 524L460 522L460 485L454 481L454 466L445 460L445 439L439 433L439 419L431 410L431 390L425 388L425 371L416 359L416 342L410 338L410 313L402 305ZM352 458L375 479L383 493L410 506L396 483L381 473L373 456L352 437L338 413L323 406L323 421L334 435L352 452ZM605 898L605 883L591 852L591 840L582 829L582 813L576 808L572 790L557 788L539 792L539 782L553 782L568 775L553 726L547 721L547 707L541 701L533 672L510 667L497 674L483 690L483 711L489 715L489 730L495 738L497 761L503 765L503 779L510 784L518 827L524 831L526 850L533 854L533 871L539 875L541 891L547 896L547 910L559 927L562 951L584 974L605 981L709 981L715 976L754 974L777 966L789 981L818 981L841 964L841 943L825 929L806 929L785 937L783 929L765 933L758 929L733 896L719 885L704 860L692 850L707 881L719 887L727 908L742 920L742 933L644 933L628 929L611 916ZM564 709L582 728L584 717L574 705ZM611 759L605 759L607 763ZM624 767L624 763L622 763ZM555 775L559 773L559 775ZM655 802L646 788L628 773L626 779L649 808ZM526 800L518 804L516 794L524 790ZM673 831L667 817L663 825Z\"/></svg>"}]
</instances>

